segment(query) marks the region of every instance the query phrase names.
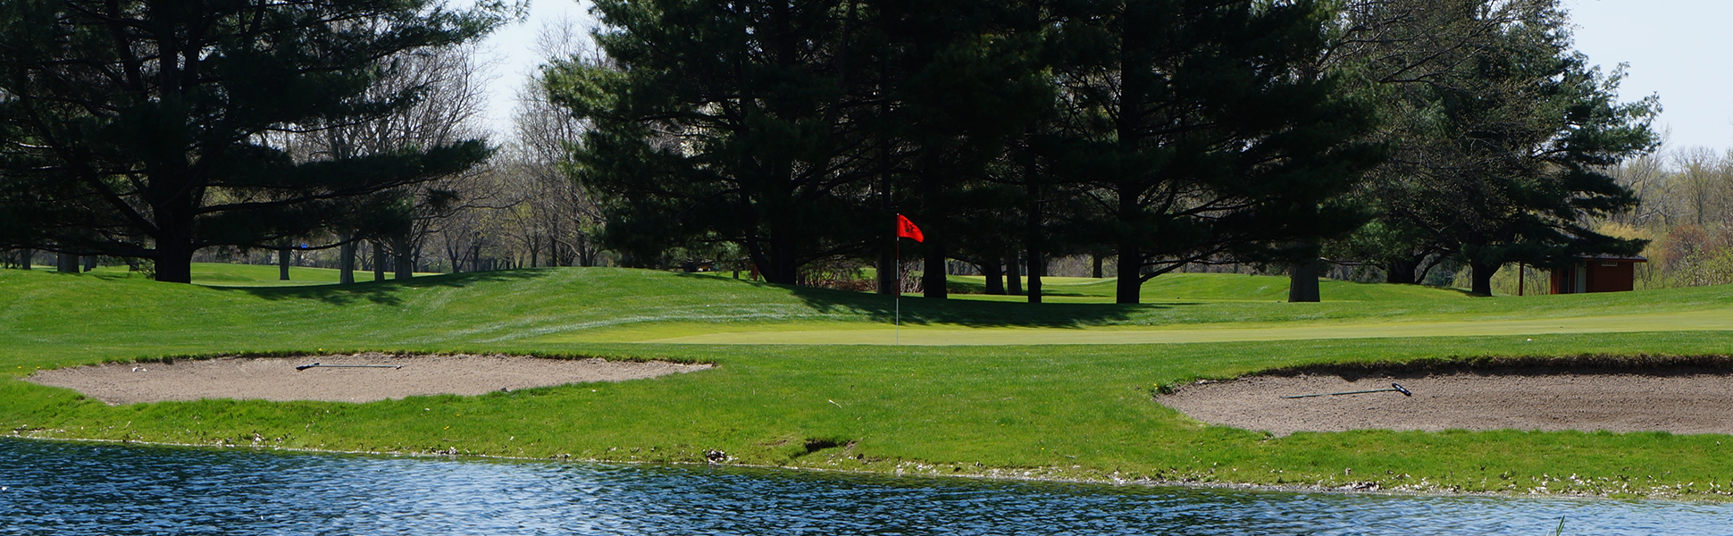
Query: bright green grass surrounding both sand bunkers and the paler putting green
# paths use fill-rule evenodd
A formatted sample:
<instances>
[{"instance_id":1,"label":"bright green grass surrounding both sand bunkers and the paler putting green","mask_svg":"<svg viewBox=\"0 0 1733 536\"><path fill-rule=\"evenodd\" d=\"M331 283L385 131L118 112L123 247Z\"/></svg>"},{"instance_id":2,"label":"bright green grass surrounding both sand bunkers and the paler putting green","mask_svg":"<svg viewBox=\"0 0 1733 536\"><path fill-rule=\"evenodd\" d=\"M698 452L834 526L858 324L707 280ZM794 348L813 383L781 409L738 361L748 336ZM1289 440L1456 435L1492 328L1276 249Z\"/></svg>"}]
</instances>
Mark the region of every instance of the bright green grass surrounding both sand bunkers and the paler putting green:
<instances>
[{"instance_id":1,"label":"bright green grass surrounding both sand bunkers and the paler putting green","mask_svg":"<svg viewBox=\"0 0 1733 536\"><path fill-rule=\"evenodd\" d=\"M1196 291L1213 297L1246 288L1208 278L1194 283L1218 283ZM1100 480L1379 482L1386 489L1690 498L1719 498L1733 486L1728 435L1367 430L1269 437L1201 425L1151 399L1161 385L1315 363L1693 356L1733 347L1733 331L1672 330L1678 321L1728 310L1726 286L1527 298L1373 286L1362 297L1324 304L1192 297L1147 305L905 298L903 314L912 331L1024 330L1052 333L1048 340L1173 328L1509 326L1612 316L1660 316L1655 326L1664 330L1099 345L629 343L607 340L809 326L870 331L889 321L894 304L622 269L305 288L0 271L0 427L31 437L645 461L702 461L705 449L719 449L740 463ZM106 406L19 380L36 368L111 359L315 350L534 352L721 366L639 382L367 404Z\"/></svg>"}]
</instances>

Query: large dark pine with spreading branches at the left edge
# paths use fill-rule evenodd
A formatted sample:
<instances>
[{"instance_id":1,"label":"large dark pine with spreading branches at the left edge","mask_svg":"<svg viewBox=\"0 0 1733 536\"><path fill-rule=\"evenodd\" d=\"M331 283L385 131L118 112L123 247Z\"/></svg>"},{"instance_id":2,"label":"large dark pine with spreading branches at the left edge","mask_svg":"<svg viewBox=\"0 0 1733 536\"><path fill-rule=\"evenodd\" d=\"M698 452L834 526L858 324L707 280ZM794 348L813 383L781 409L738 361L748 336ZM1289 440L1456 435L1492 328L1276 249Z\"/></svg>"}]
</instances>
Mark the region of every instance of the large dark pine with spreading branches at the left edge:
<instances>
[{"instance_id":1,"label":"large dark pine with spreading branches at the left edge","mask_svg":"<svg viewBox=\"0 0 1733 536\"><path fill-rule=\"evenodd\" d=\"M412 104L419 88L366 95L380 61L478 38L501 14L430 0L5 2L0 239L153 258L158 279L187 283L204 246L376 224L354 222L393 210L376 193L464 170L485 144L295 161L267 134Z\"/></svg>"}]
</instances>

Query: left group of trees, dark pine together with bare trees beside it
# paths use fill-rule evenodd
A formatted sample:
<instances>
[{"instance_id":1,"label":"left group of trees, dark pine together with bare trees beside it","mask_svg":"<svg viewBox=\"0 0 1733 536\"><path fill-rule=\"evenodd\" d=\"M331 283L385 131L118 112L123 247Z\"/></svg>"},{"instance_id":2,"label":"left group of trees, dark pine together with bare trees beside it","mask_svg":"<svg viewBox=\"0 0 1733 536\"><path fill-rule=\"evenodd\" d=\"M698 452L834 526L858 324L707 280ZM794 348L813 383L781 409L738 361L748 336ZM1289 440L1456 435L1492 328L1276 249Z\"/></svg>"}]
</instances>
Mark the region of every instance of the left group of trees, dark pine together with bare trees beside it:
<instances>
[{"instance_id":1,"label":"left group of trees, dark pine together with bare trees beside it","mask_svg":"<svg viewBox=\"0 0 1733 536\"><path fill-rule=\"evenodd\" d=\"M0 12L0 250L62 271L198 260L477 271L605 262L532 85L484 142L475 42L513 7L14 2ZM548 56L582 42L570 24ZM260 258L267 253L270 258Z\"/></svg>"}]
</instances>

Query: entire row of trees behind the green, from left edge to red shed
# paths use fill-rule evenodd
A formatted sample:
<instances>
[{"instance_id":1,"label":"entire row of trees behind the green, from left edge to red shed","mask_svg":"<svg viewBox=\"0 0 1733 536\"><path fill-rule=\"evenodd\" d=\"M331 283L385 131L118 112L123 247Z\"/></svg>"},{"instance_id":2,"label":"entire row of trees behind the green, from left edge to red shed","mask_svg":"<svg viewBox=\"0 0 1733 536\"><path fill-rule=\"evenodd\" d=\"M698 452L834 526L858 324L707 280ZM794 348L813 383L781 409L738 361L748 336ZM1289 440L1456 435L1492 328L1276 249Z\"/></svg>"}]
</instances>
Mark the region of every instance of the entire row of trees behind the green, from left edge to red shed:
<instances>
[{"instance_id":1,"label":"entire row of trees behind the green, from left edge to red shed","mask_svg":"<svg viewBox=\"0 0 1733 536\"><path fill-rule=\"evenodd\" d=\"M1199 265L1317 300L1329 262L1489 293L1645 246L1594 222L1648 193L1608 170L1650 161L1657 102L1619 102L1558 0L603 0L594 52L544 35L497 147L471 43L506 5L182 7L0 14L0 250L163 281L248 252L345 279L875 264L886 293L903 252L929 297L964 265L1031 302L1088 257L1137 302Z\"/></svg>"}]
</instances>

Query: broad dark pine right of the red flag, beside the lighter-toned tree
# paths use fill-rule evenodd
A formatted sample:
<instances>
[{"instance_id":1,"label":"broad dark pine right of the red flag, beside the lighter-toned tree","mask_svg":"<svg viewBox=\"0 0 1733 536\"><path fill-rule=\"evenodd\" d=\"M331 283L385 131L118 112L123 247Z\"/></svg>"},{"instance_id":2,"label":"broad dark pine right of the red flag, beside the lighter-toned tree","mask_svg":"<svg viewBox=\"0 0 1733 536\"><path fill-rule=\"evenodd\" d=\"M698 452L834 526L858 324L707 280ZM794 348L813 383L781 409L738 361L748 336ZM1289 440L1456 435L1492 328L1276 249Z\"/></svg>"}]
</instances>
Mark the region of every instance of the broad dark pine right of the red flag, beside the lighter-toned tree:
<instances>
[{"instance_id":1,"label":"broad dark pine right of the red flag, beside the lighter-toned tree","mask_svg":"<svg viewBox=\"0 0 1733 536\"><path fill-rule=\"evenodd\" d=\"M1116 300L1222 257L1274 258L1348 232L1341 201L1381 158L1371 108L1308 69L1331 16L1315 2L1062 2L1055 62L1066 153L1055 168L1100 213Z\"/></svg>"}]
</instances>

